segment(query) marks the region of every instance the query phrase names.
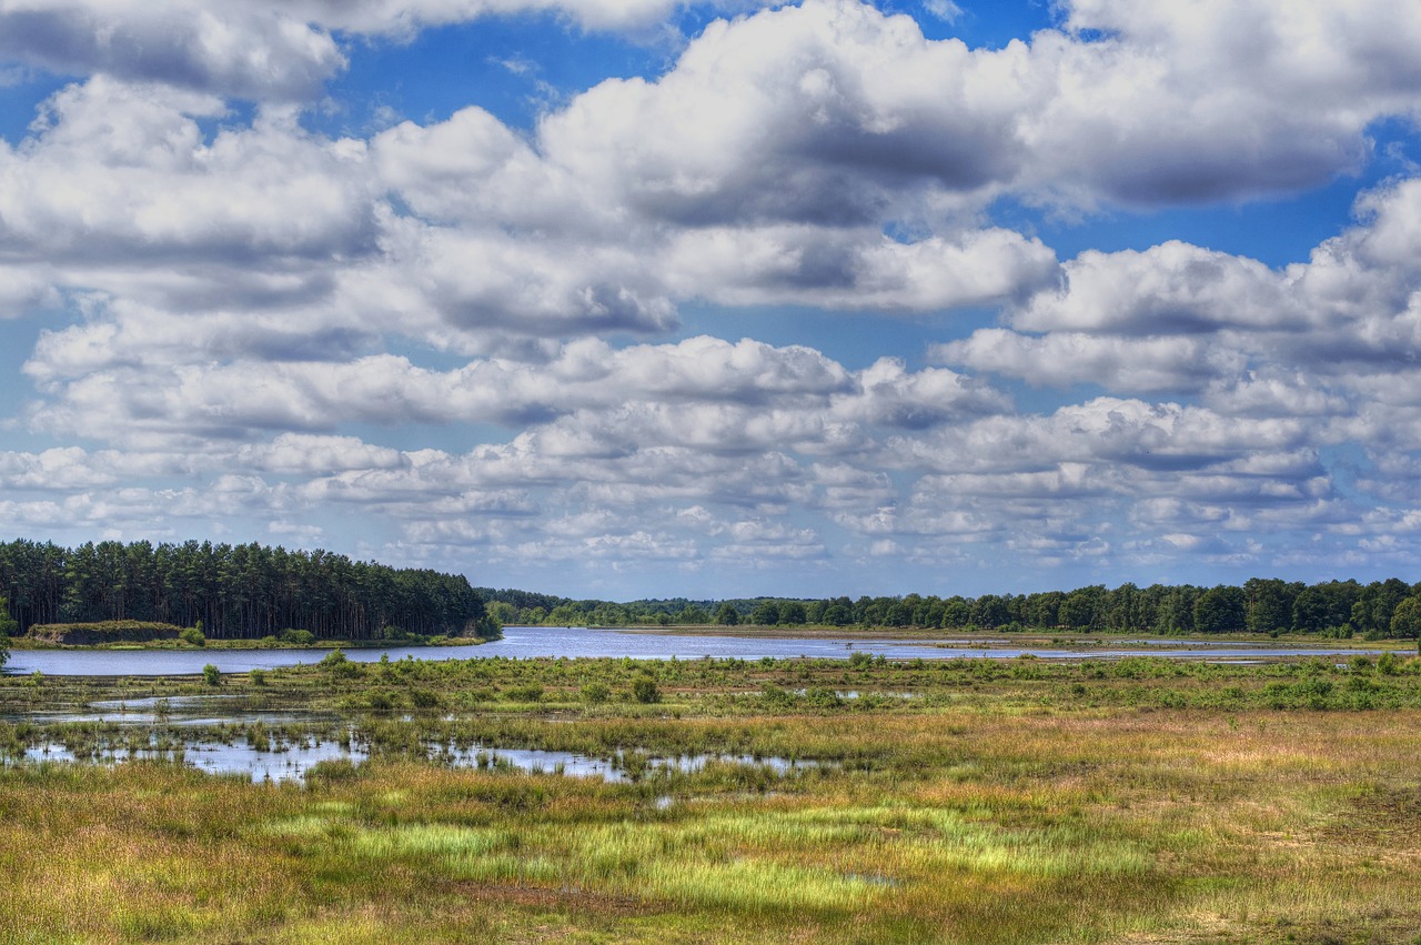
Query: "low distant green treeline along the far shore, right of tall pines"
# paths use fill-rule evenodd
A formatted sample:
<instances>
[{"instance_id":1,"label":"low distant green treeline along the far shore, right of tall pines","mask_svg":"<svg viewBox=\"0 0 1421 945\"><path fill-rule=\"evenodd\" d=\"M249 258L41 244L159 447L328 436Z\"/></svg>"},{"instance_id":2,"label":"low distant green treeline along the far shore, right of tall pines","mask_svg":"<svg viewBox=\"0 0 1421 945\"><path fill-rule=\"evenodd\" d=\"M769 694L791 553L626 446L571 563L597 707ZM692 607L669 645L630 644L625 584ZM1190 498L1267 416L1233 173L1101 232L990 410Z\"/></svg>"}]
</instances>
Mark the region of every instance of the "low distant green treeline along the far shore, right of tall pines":
<instances>
[{"instance_id":1,"label":"low distant green treeline along the far shore, right of tall pines","mask_svg":"<svg viewBox=\"0 0 1421 945\"><path fill-rule=\"evenodd\" d=\"M479 588L500 624L919 627L942 630L1077 630L1179 634L1317 634L1414 638L1421 634L1421 584L1398 578L1360 584L1253 578L1242 587L1103 584L1037 594L982 597L848 597L641 600L627 604Z\"/></svg>"}]
</instances>

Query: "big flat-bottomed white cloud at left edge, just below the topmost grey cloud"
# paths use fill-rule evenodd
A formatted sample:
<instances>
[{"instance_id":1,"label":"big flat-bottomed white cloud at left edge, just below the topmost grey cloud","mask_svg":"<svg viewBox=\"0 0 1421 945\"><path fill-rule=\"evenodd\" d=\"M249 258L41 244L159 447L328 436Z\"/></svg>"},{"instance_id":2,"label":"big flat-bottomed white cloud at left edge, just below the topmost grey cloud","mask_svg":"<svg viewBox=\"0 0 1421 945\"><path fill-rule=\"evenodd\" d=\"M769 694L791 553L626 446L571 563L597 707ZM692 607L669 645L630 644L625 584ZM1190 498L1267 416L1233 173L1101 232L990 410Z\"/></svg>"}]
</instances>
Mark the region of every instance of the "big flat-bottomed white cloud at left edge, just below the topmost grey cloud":
<instances>
[{"instance_id":1,"label":"big flat-bottomed white cloud at left edge, just below the topmost grey cloud","mask_svg":"<svg viewBox=\"0 0 1421 945\"><path fill-rule=\"evenodd\" d=\"M220 99L92 78L57 92L33 136L0 144L0 243L55 263L320 260L374 246L347 172L360 142L304 134L288 109L210 142Z\"/></svg>"}]
</instances>

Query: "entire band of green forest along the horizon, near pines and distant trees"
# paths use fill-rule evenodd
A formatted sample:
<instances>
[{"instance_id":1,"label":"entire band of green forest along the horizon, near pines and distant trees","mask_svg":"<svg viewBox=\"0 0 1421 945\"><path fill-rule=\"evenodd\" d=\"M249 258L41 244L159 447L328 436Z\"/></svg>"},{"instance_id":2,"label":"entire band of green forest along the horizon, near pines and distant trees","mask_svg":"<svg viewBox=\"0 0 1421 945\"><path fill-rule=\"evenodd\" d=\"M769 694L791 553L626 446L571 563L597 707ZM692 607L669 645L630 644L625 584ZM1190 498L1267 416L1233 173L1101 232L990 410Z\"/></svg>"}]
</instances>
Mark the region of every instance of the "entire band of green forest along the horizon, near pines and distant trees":
<instances>
[{"instance_id":1,"label":"entire band of green forest along the horizon, near pines and distant trees","mask_svg":"<svg viewBox=\"0 0 1421 945\"><path fill-rule=\"evenodd\" d=\"M260 544L0 543L0 628L156 621L213 639L304 630L323 639L495 635L500 625L891 627L1086 632L1421 637L1421 584L1387 578L1242 585L1103 584L1069 591L833 598L573 600L470 587L463 576ZM9 617L10 620L6 620ZM11 622L13 621L13 622Z\"/></svg>"}]
</instances>

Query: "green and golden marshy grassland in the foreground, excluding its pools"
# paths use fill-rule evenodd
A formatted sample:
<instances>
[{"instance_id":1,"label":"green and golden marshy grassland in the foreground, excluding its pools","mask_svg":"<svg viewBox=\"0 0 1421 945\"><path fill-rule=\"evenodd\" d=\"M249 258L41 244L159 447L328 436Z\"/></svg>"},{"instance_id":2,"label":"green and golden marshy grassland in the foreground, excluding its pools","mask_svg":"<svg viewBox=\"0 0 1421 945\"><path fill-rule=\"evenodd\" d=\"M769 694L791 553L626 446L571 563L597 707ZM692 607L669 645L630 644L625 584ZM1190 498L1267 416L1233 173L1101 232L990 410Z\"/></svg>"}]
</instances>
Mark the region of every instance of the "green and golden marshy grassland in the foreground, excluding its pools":
<instances>
[{"instance_id":1,"label":"green and golden marshy grassland in the foreground, excluding its pools","mask_svg":"<svg viewBox=\"0 0 1421 945\"><path fill-rule=\"evenodd\" d=\"M10 763L0 941L1421 942L1415 658L333 659L7 678L0 712L213 692L335 711L371 760L304 786ZM132 738L6 722L0 753ZM746 760L425 760L466 742Z\"/></svg>"}]
</instances>

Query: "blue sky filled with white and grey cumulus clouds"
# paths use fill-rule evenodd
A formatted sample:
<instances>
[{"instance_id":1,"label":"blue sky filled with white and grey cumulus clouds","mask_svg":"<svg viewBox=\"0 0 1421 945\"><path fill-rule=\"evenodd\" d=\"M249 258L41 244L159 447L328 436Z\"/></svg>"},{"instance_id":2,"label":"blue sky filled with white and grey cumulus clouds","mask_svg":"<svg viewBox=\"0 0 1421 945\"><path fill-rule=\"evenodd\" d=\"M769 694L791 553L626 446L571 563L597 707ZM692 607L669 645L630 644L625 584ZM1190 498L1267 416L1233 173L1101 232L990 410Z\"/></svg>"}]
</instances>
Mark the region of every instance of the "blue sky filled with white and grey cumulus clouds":
<instances>
[{"instance_id":1,"label":"blue sky filled with white and grey cumulus clouds","mask_svg":"<svg viewBox=\"0 0 1421 945\"><path fill-rule=\"evenodd\" d=\"M1421 580L1421 4L0 0L0 539Z\"/></svg>"}]
</instances>

